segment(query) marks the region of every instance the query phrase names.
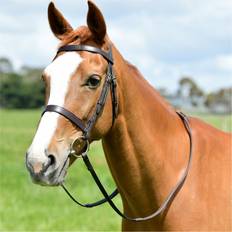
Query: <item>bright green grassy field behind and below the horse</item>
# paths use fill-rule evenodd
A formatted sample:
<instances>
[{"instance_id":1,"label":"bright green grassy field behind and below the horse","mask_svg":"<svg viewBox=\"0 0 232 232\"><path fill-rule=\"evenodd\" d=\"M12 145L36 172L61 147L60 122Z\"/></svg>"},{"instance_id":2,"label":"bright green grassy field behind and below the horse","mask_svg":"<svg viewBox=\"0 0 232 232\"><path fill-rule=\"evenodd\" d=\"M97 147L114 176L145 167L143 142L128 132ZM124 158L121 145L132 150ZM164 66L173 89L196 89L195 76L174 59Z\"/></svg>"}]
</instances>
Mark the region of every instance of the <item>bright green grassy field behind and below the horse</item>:
<instances>
[{"instance_id":1,"label":"bright green grassy field behind and below the horse","mask_svg":"<svg viewBox=\"0 0 232 232\"><path fill-rule=\"evenodd\" d=\"M39 111L0 111L0 231L119 231L121 219L108 205L77 207L61 188L32 184L25 168L25 151L40 116ZM200 115L203 120L231 131L230 116ZM100 143L90 151L97 173L109 191L114 183ZM100 198L82 162L70 168L67 186L83 202ZM120 198L116 203L121 207Z\"/></svg>"}]
</instances>

